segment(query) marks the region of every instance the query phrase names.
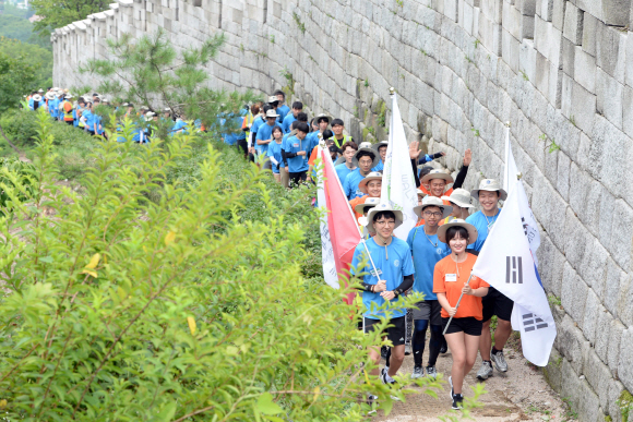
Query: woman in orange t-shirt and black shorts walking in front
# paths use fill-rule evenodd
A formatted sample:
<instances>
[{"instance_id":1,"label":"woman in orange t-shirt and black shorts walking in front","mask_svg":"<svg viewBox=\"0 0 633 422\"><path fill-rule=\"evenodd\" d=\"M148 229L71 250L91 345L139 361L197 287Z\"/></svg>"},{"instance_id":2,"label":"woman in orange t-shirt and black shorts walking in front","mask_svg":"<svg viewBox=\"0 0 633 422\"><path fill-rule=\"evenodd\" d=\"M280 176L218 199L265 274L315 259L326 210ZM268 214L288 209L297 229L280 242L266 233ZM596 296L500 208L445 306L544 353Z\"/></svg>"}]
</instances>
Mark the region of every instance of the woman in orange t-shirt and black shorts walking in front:
<instances>
[{"instance_id":1,"label":"woman in orange t-shirt and black shorts walking in front","mask_svg":"<svg viewBox=\"0 0 633 422\"><path fill-rule=\"evenodd\" d=\"M444 328L449 317L453 316L445 338L453 353L453 369L449 377L451 398L453 409L458 410L462 409L464 401L462 395L464 377L473 370L477 359L482 326L481 298L488 293L490 285L473 276L466 286L477 261L477 256L466 252L466 246L477 240L475 226L462 219L454 219L438 229L438 238L451 249L451 255L435 264L433 293L438 294L438 301L442 305ZM456 308L462 293L464 296L459 306Z\"/></svg>"}]
</instances>

